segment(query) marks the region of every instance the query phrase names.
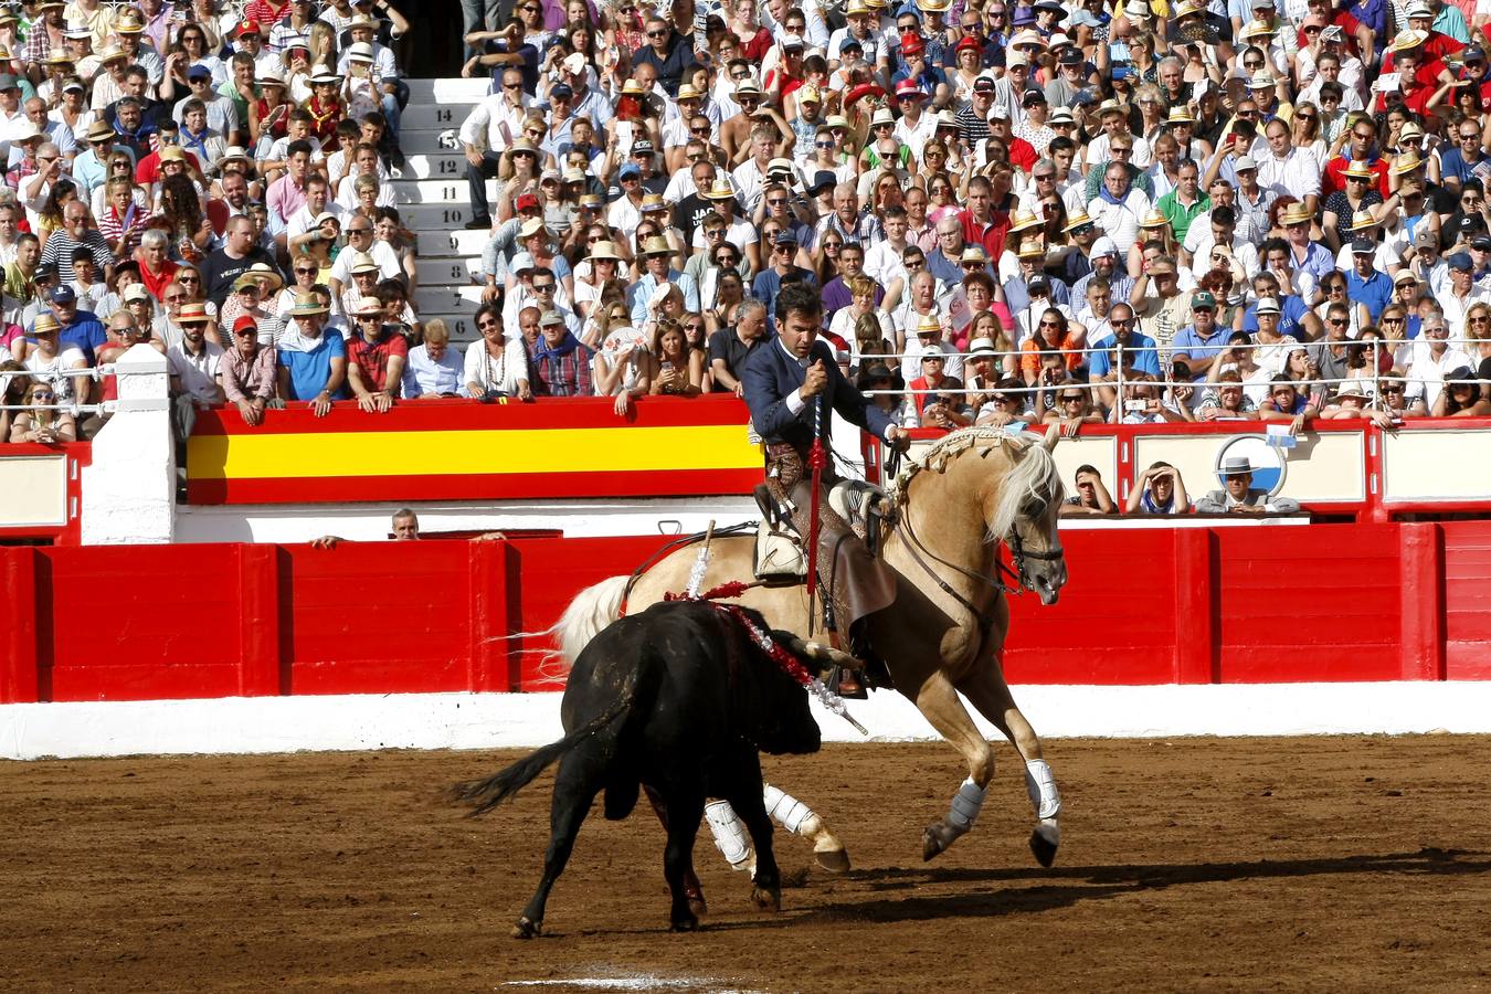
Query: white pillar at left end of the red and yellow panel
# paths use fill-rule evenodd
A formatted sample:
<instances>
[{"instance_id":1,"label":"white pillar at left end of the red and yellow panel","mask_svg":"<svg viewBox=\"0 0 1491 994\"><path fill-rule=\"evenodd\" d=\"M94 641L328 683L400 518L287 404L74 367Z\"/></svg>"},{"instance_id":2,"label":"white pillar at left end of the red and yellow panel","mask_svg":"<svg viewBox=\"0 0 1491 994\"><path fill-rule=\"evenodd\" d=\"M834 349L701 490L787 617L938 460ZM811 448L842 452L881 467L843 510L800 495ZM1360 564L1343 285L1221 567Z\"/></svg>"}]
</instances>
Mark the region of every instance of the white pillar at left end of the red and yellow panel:
<instances>
[{"instance_id":1,"label":"white pillar at left end of the red and yellow panel","mask_svg":"<svg viewBox=\"0 0 1491 994\"><path fill-rule=\"evenodd\" d=\"M176 452L166 356L140 344L113 368L119 399L94 437L92 465L83 468L82 542L168 542L176 523Z\"/></svg>"}]
</instances>

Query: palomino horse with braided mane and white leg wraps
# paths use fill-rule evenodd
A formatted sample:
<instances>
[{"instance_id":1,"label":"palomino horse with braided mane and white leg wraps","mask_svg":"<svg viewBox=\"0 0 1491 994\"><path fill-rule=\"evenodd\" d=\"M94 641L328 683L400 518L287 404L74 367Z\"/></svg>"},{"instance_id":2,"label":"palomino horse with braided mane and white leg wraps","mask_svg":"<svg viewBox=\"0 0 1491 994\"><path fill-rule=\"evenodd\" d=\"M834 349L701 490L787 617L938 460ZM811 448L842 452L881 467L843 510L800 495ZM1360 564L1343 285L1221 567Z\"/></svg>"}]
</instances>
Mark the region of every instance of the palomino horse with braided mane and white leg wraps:
<instances>
[{"instance_id":1,"label":"palomino horse with braided mane and white leg wraps","mask_svg":"<svg viewBox=\"0 0 1491 994\"><path fill-rule=\"evenodd\" d=\"M968 763L968 779L947 815L923 833L921 854L927 860L974 826L994 775L993 750L959 693L1024 760L1026 788L1038 820L1032 852L1050 866L1060 845L1060 794L1041 756L1041 739L1005 684L999 656L1009 626L1006 587L999 580L1005 569L1000 542L1009 545L1012 575L1042 604L1054 604L1066 583L1056 532L1063 489L1050 452L1054 443L1054 431L1039 444L1015 440L1003 429L965 428L930 446L918 465L901 474L890 495L899 519L883 541L883 556L896 574L898 595L892 607L869 615L869 642L896 688ZM753 541L717 538L704 587L750 577ZM668 592L687 589L696 557L693 547L683 547L635 584L629 577L611 577L581 592L556 626L565 657L574 660L596 632L616 620L623 601L637 611ZM808 604L801 586L754 587L740 602L766 615L772 627L805 633ZM828 864L823 849L832 846L839 848L839 861L847 866L842 846L826 829L816 846L820 863Z\"/></svg>"}]
</instances>

